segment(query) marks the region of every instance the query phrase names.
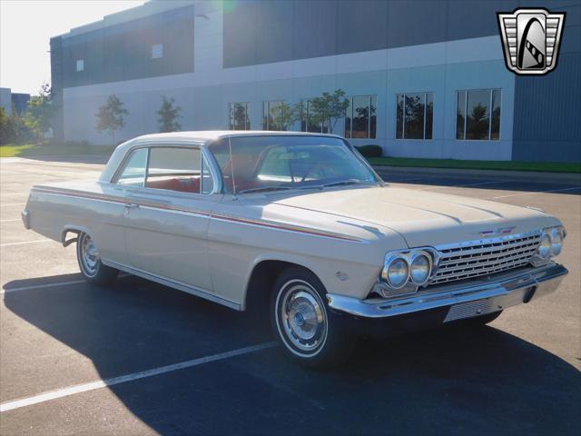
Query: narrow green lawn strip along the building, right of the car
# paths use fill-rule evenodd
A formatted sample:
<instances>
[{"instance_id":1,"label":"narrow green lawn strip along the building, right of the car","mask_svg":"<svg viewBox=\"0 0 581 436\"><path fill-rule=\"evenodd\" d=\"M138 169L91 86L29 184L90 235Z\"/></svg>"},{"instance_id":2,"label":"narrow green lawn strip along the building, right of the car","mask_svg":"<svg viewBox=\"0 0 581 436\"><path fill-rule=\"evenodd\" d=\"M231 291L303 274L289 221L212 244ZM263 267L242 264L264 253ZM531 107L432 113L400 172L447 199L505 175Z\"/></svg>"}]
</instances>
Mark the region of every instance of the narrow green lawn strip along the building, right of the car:
<instances>
[{"instance_id":1,"label":"narrow green lawn strip along the building, right of the car","mask_svg":"<svg viewBox=\"0 0 581 436\"><path fill-rule=\"evenodd\" d=\"M581 173L581 163L458 161L456 159L413 159L407 157L369 157L376 166L409 166L416 168L457 168L462 170L538 171L544 173Z\"/></svg>"}]
</instances>

